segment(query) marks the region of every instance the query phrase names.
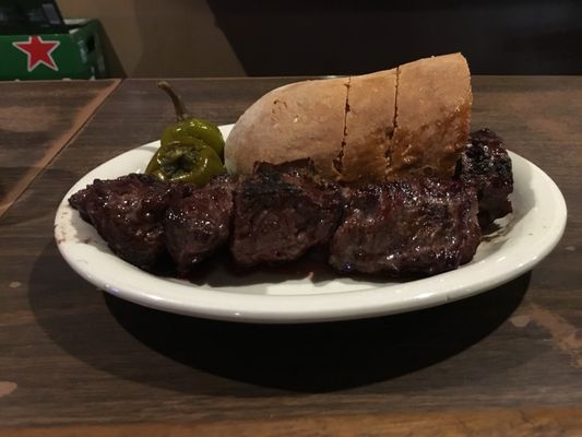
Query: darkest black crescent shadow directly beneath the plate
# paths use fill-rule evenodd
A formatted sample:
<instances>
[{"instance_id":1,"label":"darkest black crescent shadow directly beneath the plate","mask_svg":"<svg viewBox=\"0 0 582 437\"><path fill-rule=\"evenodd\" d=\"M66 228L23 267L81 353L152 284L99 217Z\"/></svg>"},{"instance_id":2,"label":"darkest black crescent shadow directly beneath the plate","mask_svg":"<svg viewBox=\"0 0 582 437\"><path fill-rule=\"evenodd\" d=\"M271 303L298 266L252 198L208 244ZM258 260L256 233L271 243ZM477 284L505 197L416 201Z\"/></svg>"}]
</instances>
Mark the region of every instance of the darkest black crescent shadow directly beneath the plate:
<instances>
[{"instance_id":1,"label":"darkest black crescent shadow directly beneath the plate","mask_svg":"<svg viewBox=\"0 0 582 437\"><path fill-rule=\"evenodd\" d=\"M521 302L530 276L450 305L403 315L311 324L242 324L179 317L112 296L119 323L180 363L246 382L301 392L382 381L477 343Z\"/></svg>"}]
</instances>

